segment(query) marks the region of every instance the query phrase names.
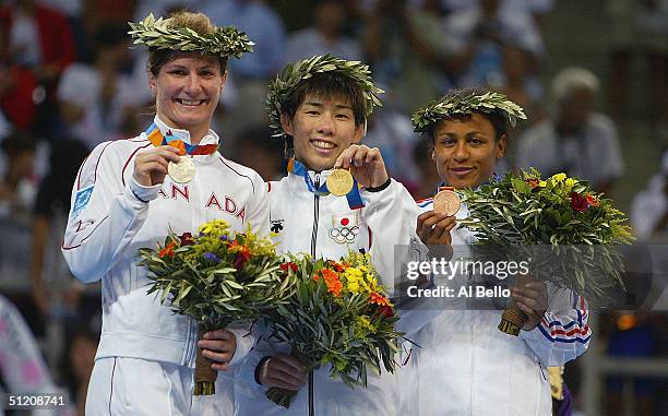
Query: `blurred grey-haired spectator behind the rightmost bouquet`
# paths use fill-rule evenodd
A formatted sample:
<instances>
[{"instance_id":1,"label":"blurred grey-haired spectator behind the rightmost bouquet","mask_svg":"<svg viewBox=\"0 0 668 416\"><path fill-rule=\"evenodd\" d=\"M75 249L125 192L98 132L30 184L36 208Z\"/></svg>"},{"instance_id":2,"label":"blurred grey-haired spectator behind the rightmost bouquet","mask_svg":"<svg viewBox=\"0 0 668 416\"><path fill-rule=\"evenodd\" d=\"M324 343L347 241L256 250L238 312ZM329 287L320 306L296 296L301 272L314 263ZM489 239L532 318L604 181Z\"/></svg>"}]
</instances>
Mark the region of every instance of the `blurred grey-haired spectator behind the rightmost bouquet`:
<instances>
[{"instance_id":1,"label":"blurred grey-haired spectator behind the rightmost bouquet","mask_svg":"<svg viewBox=\"0 0 668 416\"><path fill-rule=\"evenodd\" d=\"M598 78L569 68L552 80L553 114L528 129L517 144L518 168L535 167L544 176L563 171L588 180L597 192L609 192L624 170L612 120L594 110Z\"/></svg>"}]
</instances>

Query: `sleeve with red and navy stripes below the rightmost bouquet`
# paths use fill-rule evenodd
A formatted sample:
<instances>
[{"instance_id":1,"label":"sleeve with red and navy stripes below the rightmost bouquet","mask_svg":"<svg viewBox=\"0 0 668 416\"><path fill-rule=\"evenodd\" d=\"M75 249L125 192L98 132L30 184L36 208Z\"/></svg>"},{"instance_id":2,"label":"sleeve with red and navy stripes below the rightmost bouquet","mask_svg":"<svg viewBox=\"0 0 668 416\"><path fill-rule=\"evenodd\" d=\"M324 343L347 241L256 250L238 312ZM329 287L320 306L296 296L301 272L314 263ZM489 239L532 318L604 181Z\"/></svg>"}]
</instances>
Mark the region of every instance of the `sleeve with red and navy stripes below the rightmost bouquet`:
<instances>
[{"instance_id":1,"label":"sleeve with red and navy stripes below the rightmost bouquet","mask_svg":"<svg viewBox=\"0 0 668 416\"><path fill-rule=\"evenodd\" d=\"M548 310L530 331L521 331L529 348L547 367L563 366L577 358L589 346L586 300L570 289L548 285Z\"/></svg>"}]
</instances>

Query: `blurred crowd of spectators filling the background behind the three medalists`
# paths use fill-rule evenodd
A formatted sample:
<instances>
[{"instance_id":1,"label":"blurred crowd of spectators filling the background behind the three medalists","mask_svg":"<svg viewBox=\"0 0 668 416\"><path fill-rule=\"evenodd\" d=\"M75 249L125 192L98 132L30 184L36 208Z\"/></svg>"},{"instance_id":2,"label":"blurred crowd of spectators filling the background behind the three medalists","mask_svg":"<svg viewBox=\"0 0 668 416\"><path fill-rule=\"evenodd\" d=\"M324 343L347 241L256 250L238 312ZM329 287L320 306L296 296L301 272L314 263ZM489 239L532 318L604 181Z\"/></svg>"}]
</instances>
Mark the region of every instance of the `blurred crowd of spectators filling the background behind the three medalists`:
<instances>
[{"instance_id":1,"label":"blurred crowd of spectators filling the background behind the three medalists","mask_svg":"<svg viewBox=\"0 0 668 416\"><path fill-rule=\"evenodd\" d=\"M265 180L285 170L283 144L266 127L267 83L286 62L313 55L370 64L386 93L365 142L381 148L392 176L416 199L433 195L439 177L427 141L413 133L411 111L451 87L482 85L505 93L528 116L510 136L504 170L563 171L615 195L628 175L618 130L633 112L628 91L646 84L653 114L643 122L652 127L655 147L665 150L649 167L649 180L627 189L633 193L630 217L639 241L668 241L668 0L601 2L609 22L607 79L578 62L549 66L544 34L546 19L559 7L553 0L295 0L285 2L289 9L274 3L282 2L0 2L0 390L65 389L71 413L82 412L76 403L83 403L97 344L99 286L71 277L61 238L71 187L87 153L151 123L145 62L127 35L128 21L151 12L202 11L217 25L240 27L257 44L253 54L230 62L214 129L223 132L222 152ZM295 27L296 21L308 24ZM640 75L639 60L646 68ZM26 362L36 362L28 366L32 372L8 365L8 322L36 343L20 350L32 356ZM617 313L607 323L608 354L666 355L664 316ZM661 412L660 400L652 397L666 383L635 384L639 414ZM607 389L611 397L620 393L613 379ZM607 414L616 409L612 404Z\"/></svg>"}]
</instances>

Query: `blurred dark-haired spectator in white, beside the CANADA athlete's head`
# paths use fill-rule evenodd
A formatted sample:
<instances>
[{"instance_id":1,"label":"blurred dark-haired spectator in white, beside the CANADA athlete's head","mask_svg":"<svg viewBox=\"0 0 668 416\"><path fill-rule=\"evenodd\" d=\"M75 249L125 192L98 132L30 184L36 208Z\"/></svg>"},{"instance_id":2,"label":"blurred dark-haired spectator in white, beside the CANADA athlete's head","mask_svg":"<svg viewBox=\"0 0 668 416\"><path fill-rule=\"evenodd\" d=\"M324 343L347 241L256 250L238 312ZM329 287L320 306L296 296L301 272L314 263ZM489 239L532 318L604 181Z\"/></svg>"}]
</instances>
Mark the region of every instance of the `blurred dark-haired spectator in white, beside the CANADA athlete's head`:
<instances>
[{"instance_id":1,"label":"blurred dark-haired spectator in white, beside the CANADA athlete's head","mask_svg":"<svg viewBox=\"0 0 668 416\"><path fill-rule=\"evenodd\" d=\"M60 80L58 102L67 133L91 150L128 136L134 128L134 92L121 72L129 57L126 31L120 23L100 26L93 43L93 64L73 63Z\"/></svg>"}]
</instances>

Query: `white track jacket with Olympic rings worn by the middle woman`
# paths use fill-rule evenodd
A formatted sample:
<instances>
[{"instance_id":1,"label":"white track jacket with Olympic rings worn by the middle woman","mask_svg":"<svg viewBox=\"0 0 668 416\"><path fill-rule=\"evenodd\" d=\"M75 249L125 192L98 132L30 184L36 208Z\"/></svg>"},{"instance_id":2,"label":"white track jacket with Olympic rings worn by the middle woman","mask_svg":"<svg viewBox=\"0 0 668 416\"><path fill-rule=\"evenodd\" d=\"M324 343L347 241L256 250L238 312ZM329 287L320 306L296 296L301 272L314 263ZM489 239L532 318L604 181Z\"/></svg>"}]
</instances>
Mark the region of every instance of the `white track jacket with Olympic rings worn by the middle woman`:
<instances>
[{"instance_id":1,"label":"white track jacket with Olympic rings worn by the middle woman","mask_svg":"<svg viewBox=\"0 0 668 416\"><path fill-rule=\"evenodd\" d=\"M309 173L320 185L330 171ZM279 251L307 252L338 259L348 249L370 252L387 289L394 285L395 245L408 245L415 236L418 210L408 191L392 180L379 192L362 190L366 206L350 210L343 197L317 197L309 192L302 177L288 174L269 183L272 230L278 233ZM267 333L264 333L266 336ZM289 354L289 345L261 340L241 366L242 379L235 385L237 415L308 415L308 384L294 397L289 409L265 397L265 387L254 380L260 359L276 353ZM314 372L317 416L395 415L398 404L396 373L369 372L368 387L350 389L330 377L330 368Z\"/></svg>"}]
</instances>

